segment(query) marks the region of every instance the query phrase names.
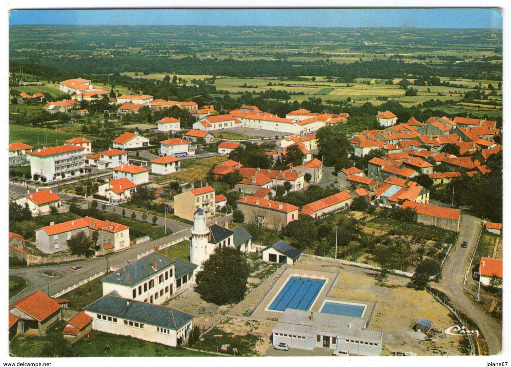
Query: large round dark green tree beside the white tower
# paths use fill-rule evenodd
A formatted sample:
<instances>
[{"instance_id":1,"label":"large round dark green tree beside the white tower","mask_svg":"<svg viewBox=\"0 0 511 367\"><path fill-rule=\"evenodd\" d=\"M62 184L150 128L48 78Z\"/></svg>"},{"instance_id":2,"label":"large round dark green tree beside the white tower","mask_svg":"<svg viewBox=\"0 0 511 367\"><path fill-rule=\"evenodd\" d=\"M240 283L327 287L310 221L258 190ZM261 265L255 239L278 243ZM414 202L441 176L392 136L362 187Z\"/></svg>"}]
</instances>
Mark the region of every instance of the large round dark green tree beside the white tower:
<instances>
[{"instance_id":1,"label":"large round dark green tree beside the white tower","mask_svg":"<svg viewBox=\"0 0 511 367\"><path fill-rule=\"evenodd\" d=\"M250 275L245 253L234 247L217 247L197 273L196 291L217 305L239 302L247 290Z\"/></svg>"}]
</instances>

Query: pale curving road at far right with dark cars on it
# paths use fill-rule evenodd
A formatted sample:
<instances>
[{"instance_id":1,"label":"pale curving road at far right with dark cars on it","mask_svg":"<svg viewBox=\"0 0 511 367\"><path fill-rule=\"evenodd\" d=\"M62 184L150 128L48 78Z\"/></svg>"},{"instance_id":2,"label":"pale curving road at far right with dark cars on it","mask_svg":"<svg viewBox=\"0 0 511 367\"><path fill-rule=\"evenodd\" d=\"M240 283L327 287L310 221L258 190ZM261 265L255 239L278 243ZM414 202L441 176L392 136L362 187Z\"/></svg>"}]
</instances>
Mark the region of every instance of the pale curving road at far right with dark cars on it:
<instances>
[{"instance_id":1,"label":"pale curving road at far right with dark cars on it","mask_svg":"<svg viewBox=\"0 0 511 367\"><path fill-rule=\"evenodd\" d=\"M490 355L496 355L502 351L502 327L490 315L477 307L463 291L464 274L474 252L481 226L481 219L468 214L461 215L456 251L452 249L444 263L443 279L440 281L438 288L449 296L456 308L466 313L477 324L486 339ZM462 241L469 243L466 249L460 247ZM469 272L468 277L471 277L471 275Z\"/></svg>"}]
</instances>

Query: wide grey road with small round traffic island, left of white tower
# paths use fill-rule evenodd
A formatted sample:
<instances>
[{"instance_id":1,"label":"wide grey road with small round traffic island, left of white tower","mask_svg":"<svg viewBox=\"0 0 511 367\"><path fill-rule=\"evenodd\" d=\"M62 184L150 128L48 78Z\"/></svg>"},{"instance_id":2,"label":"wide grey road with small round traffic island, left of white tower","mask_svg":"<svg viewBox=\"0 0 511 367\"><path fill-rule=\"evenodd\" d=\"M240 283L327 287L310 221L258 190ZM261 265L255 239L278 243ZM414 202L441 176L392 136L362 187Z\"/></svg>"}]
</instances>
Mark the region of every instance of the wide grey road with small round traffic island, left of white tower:
<instances>
[{"instance_id":1,"label":"wide grey road with small round traffic island, left of white tower","mask_svg":"<svg viewBox=\"0 0 511 367\"><path fill-rule=\"evenodd\" d=\"M145 243L137 244L128 250L118 252L116 254L108 255L110 266L119 267L127 263L128 260L134 261L137 259L137 255L144 253L154 248L154 246L161 246L162 244L168 243L178 238L183 237L182 230L177 233L173 233L170 236L162 237L156 240L148 241ZM187 229L184 232L184 237L190 237L190 231ZM186 259L185 259L186 260ZM82 269L74 272L71 267L74 265L83 266ZM50 295L65 289L73 284L78 283L80 280L90 277L91 275L97 274L106 268L106 257L90 258L81 261L74 261L66 264L53 264L48 266L31 266L19 269L10 269L9 275L16 275L18 277L25 278L27 281L27 287L22 290L17 296L9 300L9 303L16 301L17 299L27 296L36 290L41 290L44 293L47 292L48 286L50 288ZM42 274L45 270L52 270L60 274L57 278L47 277Z\"/></svg>"}]
</instances>

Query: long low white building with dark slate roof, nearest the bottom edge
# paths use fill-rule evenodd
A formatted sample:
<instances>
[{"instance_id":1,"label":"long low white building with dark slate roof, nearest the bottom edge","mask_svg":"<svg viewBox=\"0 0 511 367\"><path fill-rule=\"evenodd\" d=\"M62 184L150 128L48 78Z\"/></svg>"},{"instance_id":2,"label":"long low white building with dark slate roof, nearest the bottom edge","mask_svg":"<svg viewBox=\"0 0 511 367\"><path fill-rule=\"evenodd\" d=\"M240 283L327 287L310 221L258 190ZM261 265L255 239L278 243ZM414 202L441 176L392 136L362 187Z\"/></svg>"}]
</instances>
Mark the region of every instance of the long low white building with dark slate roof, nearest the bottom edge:
<instances>
[{"instance_id":1,"label":"long low white building with dark slate roof, nearest the bottom edge","mask_svg":"<svg viewBox=\"0 0 511 367\"><path fill-rule=\"evenodd\" d=\"M123 298L112 291L84 307L92 329L176 347L188 341L193 317L171 307Z\"/></svg>"}]
</instances>

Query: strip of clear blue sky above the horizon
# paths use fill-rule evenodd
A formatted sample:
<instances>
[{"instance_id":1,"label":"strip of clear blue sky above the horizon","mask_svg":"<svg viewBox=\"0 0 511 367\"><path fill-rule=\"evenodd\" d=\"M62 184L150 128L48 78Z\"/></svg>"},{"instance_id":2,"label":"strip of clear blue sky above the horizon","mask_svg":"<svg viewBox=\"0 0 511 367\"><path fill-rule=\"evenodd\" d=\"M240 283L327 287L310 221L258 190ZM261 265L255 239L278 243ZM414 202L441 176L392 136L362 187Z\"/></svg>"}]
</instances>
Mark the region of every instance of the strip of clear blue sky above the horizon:
<instances>
[{"instance_id":1,"label":"strip of clear blue sky above the horizon","mask_svg":"<svg viewBox=\"0 0 511 367\"><path fill-rule=\"evenodd\" d=\"M481 8L16 10L11 12L9 23L502 29L502 14L497 9Z\"/></svg>"}]
</instances>

